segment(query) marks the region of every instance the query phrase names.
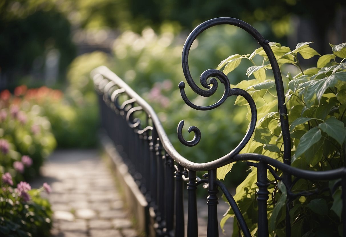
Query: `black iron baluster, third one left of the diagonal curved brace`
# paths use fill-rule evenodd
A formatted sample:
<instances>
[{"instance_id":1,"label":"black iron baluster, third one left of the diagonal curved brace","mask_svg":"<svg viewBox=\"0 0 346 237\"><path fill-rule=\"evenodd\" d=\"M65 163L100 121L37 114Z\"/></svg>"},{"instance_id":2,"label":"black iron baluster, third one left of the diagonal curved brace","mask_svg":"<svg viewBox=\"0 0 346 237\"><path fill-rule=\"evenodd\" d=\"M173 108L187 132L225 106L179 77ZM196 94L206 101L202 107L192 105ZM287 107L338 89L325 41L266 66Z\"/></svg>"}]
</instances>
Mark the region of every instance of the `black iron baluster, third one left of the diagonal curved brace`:
<instances>
[{"instance_id":1,"label":"black iron baluster, third one left of the diagonal curved brace","mask_svg":"<svg viewBox=\"0 0 346 237\"><path fill-rule=\"evenodd\" d=\"M178 164L175 172L175 237L184 236L184 199L183 199L184 167Z\"/></svg>"}]
</instances>

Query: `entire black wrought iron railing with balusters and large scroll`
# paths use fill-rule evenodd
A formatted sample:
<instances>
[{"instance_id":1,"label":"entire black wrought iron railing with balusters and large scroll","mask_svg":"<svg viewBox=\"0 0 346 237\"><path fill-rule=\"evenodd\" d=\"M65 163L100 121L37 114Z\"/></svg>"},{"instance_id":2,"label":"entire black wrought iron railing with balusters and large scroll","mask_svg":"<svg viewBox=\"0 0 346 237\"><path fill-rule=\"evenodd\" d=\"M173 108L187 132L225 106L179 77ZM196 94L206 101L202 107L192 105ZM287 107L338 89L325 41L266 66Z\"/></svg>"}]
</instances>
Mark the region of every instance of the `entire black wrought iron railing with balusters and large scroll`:
<instances>
[{"instance_id":1,"label":"entire black wrought iron railing with balusters and large scroll","mask_svg":"<svg viewBox=\"0 0 346 237\"><path fill-rule=\"evenodd\" d=\"M230 88L227 76L216 69L206 70L200 77L201 85L206 88L206 90L198 87L191 77L188 65L188 56L193 41L204 30L221 24L234 25L244 29L258 41L267 54L274 73L279 104L280 122L284 141L283 163L261 154L239 154L251 138L257 119L256 105L252 97L246 91L239 88ZM252 26L234 18L216 18L206 21L195 28L187 38L183 48L182 66L189 86L195 93L201 96L211 96L218 87L218 82L215 79L217 78L222 84L224 84L225 91L217 103L210 106L198 106L189 101L184 92L185 84L184 82L181 82L179 88L185 103L196 110L212 110L224 103L229 96L243 96L249 103L252 114L249 129L243 140L227 155L207 163L191 162L180 155L174 149L153 108L116 74L112 73L104 66L99 67L92 72L95 88L101 98L100 107L102 112L102 127L108 132L108 135L116 145L121 145L123 149L122 154L124 154L123 159L129 167L129 172L134 177L149 205L154 209L157 236L182 237L185 234L183 211L184 180L188 180L188 237L198 236L196 189L201 183L208 183L207 236L213 237L219 235L219 223L217 219L217 193L219 192L219 188L229 201L244 236L251 236L237 203L227 190L226 186L216 178L217 168L235 161L257 162L249 162L250 165L257 167L257 236L268 236L268 169L272 172L276 180L283 181L288 190L292 187L292 176L297 177L298 179L308 180L331 180L341 178L338 185L342 186L343 190L342 223L343 235L346 236L346 195L344 191L346 190L346 168L343 167L331 171L309 171L300 170L290 166L291 139L287 119L288 115L284 104L285 98L283 82L279 66L268 43L269 41L265 40ZM207 83L207 79L209 78L212 79ZM142 121L134 115L138 111L142 111L145 114ZM192 141L186 141L182 136L183 125L184 121L181 121L178 125L177 132L179 140L186 146L197 144L201 138L199 129L195 126L190 127L189 132L193 131L195 136ZM281 170L282 176L277 176L272 167ZM204 176L204 179L197 179L196 171L207 171L208 174ZM294 194L289 191L287 195L287 200L294 200L297 198L293 197ZM289 208L289 203L287 203L286 209ZM291 236L290 215L287 210L285 218L286 236Z\"/></svg>"}]
</instances>

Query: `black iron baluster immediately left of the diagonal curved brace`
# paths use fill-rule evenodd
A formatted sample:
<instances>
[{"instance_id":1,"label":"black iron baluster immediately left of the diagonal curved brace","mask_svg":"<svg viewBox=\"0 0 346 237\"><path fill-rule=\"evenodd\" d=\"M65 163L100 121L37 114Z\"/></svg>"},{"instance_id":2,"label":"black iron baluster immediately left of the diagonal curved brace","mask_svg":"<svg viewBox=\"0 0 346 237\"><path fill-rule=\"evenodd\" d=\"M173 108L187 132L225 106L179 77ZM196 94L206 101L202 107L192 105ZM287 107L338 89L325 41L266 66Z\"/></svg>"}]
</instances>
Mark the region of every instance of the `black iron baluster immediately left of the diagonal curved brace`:
<instances>
[{"instance_id":1,"label":"black iron baluster immediately left of the diagonal curved brace","mask_svg":"<svg viewBox=\"0 0 346 237\"><path fill-rule=\"evenodd\" d=\"M208 229L207 237L217 237L219 236L219 226L217 221L217 205L218 197L217 193L219 192L218 186L215 183L216 181L216 169L208 171Z\"/></svg>"}]
</instances>

